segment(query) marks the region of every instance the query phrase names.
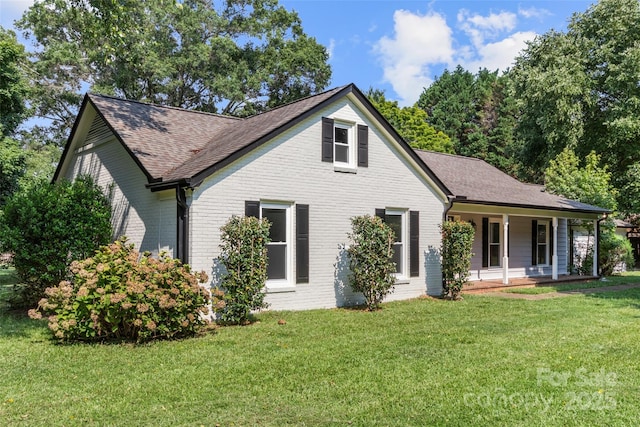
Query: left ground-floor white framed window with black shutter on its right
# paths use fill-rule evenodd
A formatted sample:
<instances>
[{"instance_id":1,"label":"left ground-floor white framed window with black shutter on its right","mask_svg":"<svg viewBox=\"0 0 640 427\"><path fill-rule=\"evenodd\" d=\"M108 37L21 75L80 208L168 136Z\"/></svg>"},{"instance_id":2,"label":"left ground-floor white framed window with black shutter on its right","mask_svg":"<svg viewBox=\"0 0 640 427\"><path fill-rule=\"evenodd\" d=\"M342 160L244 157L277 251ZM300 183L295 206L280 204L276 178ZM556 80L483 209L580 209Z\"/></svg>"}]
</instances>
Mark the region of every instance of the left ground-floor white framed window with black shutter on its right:
<instances>
[{"instance_id":1,"label":"left ground-floor white framed window with black shutter on its right","mask_svg":"<svg viewBox=\"0 0 640 427\"><path fill-rule=\"evenodd\" d=\"M291 205L260 203L260 218L271 223L267 244L267 286L288 285L291 282Z\"/></svg>"}]
</instances>

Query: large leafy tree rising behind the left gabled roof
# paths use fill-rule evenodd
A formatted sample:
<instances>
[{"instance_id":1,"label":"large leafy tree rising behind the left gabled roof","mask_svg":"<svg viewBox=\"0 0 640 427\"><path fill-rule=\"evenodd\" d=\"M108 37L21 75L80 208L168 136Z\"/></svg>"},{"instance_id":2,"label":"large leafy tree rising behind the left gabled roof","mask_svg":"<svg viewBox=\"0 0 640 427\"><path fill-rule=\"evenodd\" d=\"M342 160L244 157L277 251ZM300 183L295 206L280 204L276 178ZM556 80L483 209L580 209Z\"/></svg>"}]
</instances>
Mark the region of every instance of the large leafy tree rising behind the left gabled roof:
<instances>
[{"instance_id":1,"label":"large leafy tree rising behind the left gabled roof","mask_svg":"<svg viewBox=\"0 0 640 427\"><path fill-rule=\"evenodd\" d=\"M36 114L61 143L80 91L249 115L319 92L325 48L277 0L43 0L18 27L35 38Z\"/></svg>"}]
</instances>

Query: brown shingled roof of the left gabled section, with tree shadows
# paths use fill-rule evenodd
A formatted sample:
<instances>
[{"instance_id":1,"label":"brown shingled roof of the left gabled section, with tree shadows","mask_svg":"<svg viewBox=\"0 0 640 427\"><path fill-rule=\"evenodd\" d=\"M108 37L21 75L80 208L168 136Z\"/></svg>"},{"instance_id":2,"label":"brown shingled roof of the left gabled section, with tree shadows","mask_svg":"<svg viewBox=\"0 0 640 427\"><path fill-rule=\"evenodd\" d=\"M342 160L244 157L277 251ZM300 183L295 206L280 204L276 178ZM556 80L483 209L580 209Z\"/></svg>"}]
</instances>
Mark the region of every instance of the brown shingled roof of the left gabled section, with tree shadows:
<instances>
[{"instance_id":1,"label":"brown shingled roof of the left gabled section, with tree shadows","mask_svg":"<svg viewBox=\"0 0 640 427\"><path fill-rule=\"evenodd\" d=\"M97 94L87 94L84 104L93 105L152 187L197 185L225 160L244 154L352 88L338 87L244 119Z\"/></svg>"}]
</instances>

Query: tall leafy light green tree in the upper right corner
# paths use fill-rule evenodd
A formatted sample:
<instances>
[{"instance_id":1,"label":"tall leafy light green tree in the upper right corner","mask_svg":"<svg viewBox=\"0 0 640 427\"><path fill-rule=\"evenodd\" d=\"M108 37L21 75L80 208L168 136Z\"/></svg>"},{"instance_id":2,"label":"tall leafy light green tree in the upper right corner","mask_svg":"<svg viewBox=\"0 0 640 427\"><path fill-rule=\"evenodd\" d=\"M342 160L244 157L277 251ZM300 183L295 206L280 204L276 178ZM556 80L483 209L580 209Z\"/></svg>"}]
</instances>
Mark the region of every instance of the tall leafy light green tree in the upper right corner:
<instances>
[{"instance_id":1,"label":"tall leafy light green tree in the upper right corner","mask_svg":"<svg viewBox=\"0 0 640 427\"><path fill-rule=\"evenodd\" d=\"M640 2L601 0L516 60L517 132L533 178L568 147L581 157L595 150L616 186L627 183L640 161L639 39Z\"/></svg>"}]
</instances>

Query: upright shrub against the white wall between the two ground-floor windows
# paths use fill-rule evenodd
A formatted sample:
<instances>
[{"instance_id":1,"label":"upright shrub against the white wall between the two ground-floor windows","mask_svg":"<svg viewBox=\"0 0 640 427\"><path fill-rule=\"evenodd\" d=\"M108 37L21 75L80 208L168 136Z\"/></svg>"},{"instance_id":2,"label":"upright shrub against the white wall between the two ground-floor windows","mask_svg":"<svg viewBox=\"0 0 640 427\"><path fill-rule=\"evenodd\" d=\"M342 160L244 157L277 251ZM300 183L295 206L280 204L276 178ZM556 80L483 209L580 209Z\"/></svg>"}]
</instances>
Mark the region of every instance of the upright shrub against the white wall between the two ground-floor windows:
<instances>
[{"instance_id":1,"label":"upright shrub against the white wall between the two ground-floor windows","mask_svg":"<svg viewBox=\"0 0 640 427\"><path fill-rule=\"evenodd\" d=\"M393 292L395 263L392 261L395 235L391 227L377 216L351 218L352 243L349 255L349 283L355 292L364 295L371 311L380 307L387 294Z\"/></svg>"}]
</instances>

